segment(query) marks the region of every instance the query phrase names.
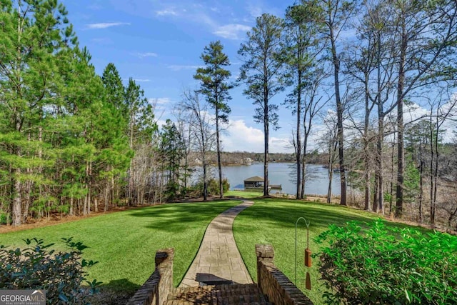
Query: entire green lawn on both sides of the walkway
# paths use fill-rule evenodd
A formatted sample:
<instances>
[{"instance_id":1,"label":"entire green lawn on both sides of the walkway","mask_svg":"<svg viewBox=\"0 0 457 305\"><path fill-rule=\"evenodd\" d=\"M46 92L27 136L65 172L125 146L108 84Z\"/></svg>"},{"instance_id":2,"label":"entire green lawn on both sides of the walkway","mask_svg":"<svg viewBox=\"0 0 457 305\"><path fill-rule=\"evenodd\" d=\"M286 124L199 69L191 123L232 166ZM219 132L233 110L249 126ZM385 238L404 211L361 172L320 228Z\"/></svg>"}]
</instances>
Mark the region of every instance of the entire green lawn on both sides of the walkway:
<instances>
[{"instance_id":1,"label":"entire green lawn on both sides of the walkway","mask_svg":"<svg viewBox=\"0 0 457 305\"><path fill-rule=\"evenodd\" d=\"M311 221L310 248L313 253L319 245L313 238L325 231L328 224L342 225L347 221L371 221L374 214L342 206L317 204L285 199L260 199L257 192L229 191L227 196L251 198L255 204L235 219L234 236L238 249L256 280L255 244L273 244L276 266L294 279L295 223L303 216ZM99 261L89 270L89 279L104 282L108 289L128 291L139 288L154 270L156 249L174 247L174 285L177 286L199 249L206 226L222 211L239 204L239 201L209 201L192 204L164 204L131 209L79 221L72 221L39 229L0 234L0 244L22 246L21 239L39 238L46 243L60 242L62 237L74 237L90 246L85 259ZM396 226L405 226L395 224ZM318 281L316 261L311 267L313 289L304 289L305 268L303 250L306 247L305 225L298 226L298 287L305 291L315 304L321 304L323 288Z\"/></svg>"}]
</instances>

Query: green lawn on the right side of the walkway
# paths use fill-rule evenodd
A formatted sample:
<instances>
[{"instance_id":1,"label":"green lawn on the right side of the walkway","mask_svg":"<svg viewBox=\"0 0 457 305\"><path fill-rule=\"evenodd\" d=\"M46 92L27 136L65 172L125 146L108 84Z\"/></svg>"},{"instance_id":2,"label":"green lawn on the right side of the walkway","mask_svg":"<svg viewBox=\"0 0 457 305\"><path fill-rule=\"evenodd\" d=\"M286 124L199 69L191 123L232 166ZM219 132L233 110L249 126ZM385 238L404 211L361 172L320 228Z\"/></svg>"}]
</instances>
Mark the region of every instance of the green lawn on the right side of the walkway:
<instances>
[{"instance_id":1,"label":"green lawn on the right side of the walkway","mask_svg":"<svg viewBox=\"0 0 457 305\"><path fill-rule=\"evenodd\" d=\"M291 281L294 281L295 224L298 217L305 217L310 224L310 249L313 254L319 245L313 238L328 228L329 224L342 225L347 221L372 221L374 214L356 211L343 206L317 204L304 201L282 199L254 199L255 204L239 214L233 224L233 234L238 249L251 277L256 281L256 244L272 244L275 251L275 264ZM396 224L396 226L404 226ZM306 248L306 226L298 223L297 282L298 288L314 302L322 304L323 287L318 281L316 259L310 268L311 291L304 288L305 273L303 252Z\"/></svg>"}]
</instances>

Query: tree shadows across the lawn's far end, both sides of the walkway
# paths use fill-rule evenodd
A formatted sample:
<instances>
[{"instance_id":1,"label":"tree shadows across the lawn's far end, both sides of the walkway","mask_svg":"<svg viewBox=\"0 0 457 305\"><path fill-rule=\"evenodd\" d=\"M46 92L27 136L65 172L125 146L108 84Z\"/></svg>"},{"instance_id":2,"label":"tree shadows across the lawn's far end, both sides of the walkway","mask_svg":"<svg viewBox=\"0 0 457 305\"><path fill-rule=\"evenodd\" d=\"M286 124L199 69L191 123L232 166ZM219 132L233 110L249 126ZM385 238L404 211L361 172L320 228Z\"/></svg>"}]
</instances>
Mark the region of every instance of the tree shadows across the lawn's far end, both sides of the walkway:
<instances>
[{"instance_id":1,"label":"tree shadows across the lawn's far end, both sides of the walkway","mask_svg":"<svg viewBox=\"0 0 457 305\"><path fill-rule=\"evenodd\" d=\"M293 228L296 220L301 216L311 221L312 227L323 229L326 229L329 224L341 226L348 221L368 222L377 217L376 214L368 214L365 211L332 204L260 197L248 200L253 200L256 204L242 211L238 216L250 219L250 221L241 221L237 224L237 229L240 230L251 230L251 225L258 222ZM189 226L200 226L202 222L209 223L214 217L239 203L241 202L211 201L189 204L164 204L133 210L129 212L129 215L142 219L139 221L139 225L144 225L146 228L176 232L182 231ZM399 223L388 222L388 224L401 228L411 227Z\"/></svg>"}]
</instances>

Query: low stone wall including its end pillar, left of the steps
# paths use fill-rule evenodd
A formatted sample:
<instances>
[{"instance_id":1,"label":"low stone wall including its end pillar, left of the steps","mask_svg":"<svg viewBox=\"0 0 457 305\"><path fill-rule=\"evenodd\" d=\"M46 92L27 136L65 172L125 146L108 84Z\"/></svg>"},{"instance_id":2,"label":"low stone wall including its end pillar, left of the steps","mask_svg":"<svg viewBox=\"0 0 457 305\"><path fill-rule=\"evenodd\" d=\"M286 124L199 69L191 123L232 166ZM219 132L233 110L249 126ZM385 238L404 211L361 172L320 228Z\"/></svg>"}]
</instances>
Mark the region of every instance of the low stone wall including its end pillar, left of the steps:
<instances>
[{"instance_id":1,"label":"low stone wall including its end pillar, left of the steps","mask_svg":"<svg viewBox=\"0 0 457 305\"><path fill-rule=\"evenodd\" d=\"M156 252L156 269L140 287L127 305L163 305L173 289L174 249L161 249Z\"/></svg>"}]
</instances>

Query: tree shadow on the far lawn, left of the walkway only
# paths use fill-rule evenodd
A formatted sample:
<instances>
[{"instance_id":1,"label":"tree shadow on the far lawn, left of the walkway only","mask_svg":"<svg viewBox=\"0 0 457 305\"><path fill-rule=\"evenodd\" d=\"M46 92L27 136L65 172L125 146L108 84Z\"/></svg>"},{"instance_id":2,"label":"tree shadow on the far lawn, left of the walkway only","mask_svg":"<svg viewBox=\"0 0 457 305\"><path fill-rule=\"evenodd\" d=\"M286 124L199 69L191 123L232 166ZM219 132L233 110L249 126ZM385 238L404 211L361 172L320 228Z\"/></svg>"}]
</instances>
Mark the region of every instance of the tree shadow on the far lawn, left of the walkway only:
<instances>
[{"instance_id":1,"label":"tree shadow on the far lawn, left of the walkway only","mask_svg":"<svg viewBox=\"0 0 457 305\"><path fill-rule=\"evenodd\" d=\"M209 222L237 204L241 204L241 201L164 204L131 211L129 215L146 219L144 224L149 229L174 232L184 230L189 226L201 225L202 222Z\"/></svg>"}]
</instances>

